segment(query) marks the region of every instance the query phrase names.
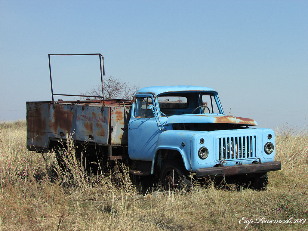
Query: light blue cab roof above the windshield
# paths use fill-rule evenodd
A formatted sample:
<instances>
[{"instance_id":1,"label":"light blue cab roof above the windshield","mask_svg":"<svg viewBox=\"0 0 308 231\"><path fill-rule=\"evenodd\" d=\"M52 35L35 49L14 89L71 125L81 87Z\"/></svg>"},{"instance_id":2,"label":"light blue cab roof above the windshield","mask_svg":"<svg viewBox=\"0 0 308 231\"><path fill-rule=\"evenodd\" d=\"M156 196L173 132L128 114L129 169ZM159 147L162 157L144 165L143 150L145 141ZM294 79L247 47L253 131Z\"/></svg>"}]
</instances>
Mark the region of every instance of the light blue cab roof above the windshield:
<instances>
[{"instance_id":1,"label":"light blue cab roof above the windshield","mask_svg":"<svg viewBox=\"0 0 308 231\"><path fill-rule=\"evenodd\" d=\"M153 93L155 96L166 92L183 92L183 91L212 91L216 94L217 91L210 87L200 86L156 86L156 87L144 87L136 92L137 93Z\"/></svg>"}]
</instances>

